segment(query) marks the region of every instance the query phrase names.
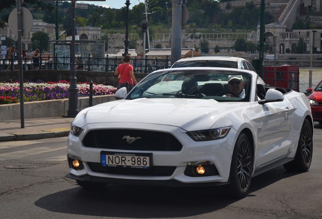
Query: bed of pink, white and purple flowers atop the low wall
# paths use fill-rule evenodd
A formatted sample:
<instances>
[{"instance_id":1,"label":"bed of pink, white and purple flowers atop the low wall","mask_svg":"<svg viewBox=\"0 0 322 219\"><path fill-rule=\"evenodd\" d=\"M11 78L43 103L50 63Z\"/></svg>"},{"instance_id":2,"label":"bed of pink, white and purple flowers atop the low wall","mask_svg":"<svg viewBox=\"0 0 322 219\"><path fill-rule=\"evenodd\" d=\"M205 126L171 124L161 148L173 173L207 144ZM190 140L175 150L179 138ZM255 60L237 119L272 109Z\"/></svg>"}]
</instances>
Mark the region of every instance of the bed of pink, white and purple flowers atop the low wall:
<instances>
[{"instance_id":1,"label":"bed of pink, white and purple flowers atop the low wall","mask_svg":"<svg viewBox=\"0 0 322 219\"><path fill-rule=\"evenodd\" d=\"M24 102L68 98L69 82L25 82ZM78 83L78 97L90 95L89 83ZM93 96L114 94L116 88L110 85L93 84ZM18 103L20 100L19 82L0 82L0 104Z\"/></svg>"}]
</instances>

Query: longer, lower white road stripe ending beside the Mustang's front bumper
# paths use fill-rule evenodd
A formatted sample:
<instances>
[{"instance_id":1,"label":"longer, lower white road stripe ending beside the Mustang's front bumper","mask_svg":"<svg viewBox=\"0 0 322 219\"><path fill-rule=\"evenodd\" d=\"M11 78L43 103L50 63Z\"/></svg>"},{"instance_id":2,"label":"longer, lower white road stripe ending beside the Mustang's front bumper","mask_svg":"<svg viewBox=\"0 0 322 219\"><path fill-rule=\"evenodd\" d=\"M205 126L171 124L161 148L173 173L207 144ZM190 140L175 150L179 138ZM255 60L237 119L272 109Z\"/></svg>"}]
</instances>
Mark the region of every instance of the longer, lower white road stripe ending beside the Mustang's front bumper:
<instances>
[{"instance_id":1,"label":"longer, lower white road stripe ending beside the Mustang's front bumper","mask_svg":"<svg viewBox=\"0 0 322 219\"><path fill-rule=\"evenodd\" d=\"M58 151L58 150L62 150L62 149L66 150L66 147L61 147L61 148L40 147L40 148L27 149L27 150L22 150L22 151L0 154L0 160L18 159L18 158L22 158L22 157L27 157L29 155L37 155L37 154L42 154L42 153ZM66 157L65 157L65 159L66 159Z\"/></svg>"}]
</instances>

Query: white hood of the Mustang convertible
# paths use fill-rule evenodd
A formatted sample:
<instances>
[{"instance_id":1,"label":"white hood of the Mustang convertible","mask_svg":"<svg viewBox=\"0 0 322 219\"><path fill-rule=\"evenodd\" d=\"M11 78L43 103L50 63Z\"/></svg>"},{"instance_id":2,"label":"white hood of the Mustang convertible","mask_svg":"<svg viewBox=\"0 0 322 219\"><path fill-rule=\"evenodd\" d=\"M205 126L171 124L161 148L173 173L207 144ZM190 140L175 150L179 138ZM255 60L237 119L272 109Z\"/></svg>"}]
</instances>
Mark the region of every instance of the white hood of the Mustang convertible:
<instances>
[{"instance_id":1,"label":"white hood of the Mustang convertible","mask_svg":"<svg viewBox=\"0 0 322 219\"><path fill-rule=\"evenodd\" d=\"M189 130L210 128L221 117L235 111L241 102L217 102L213 99L140 98L117 100L79 112L73 124L149 123ZM80 126L82 127L82 126ZM190 128L189 128L190 127Z\"/></svg>"}]
</instances>

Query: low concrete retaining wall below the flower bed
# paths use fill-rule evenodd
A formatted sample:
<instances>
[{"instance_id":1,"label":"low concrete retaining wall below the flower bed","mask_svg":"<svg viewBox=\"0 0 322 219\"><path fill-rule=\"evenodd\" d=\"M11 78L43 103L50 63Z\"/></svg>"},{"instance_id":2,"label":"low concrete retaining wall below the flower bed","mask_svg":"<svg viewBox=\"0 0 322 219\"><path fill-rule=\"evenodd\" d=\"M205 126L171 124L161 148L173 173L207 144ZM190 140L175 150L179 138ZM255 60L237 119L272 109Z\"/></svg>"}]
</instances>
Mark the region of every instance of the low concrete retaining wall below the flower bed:
<instances>
[{"instance_id":1,"label":"low concrete retaining wall below the flower bed","mask_svg":"<svg viewBox=\"0 0 322 219\"><path fill-rule=\"evenodd\" d=\"M114 95L93 96L93 105L115 100ZM78 111L89 107L89 97L78 98ZM66 116L68 99L25 102L24 119ZM0 105L0 121L20 119L20 103Z\"/></svg>"}]
</instances>

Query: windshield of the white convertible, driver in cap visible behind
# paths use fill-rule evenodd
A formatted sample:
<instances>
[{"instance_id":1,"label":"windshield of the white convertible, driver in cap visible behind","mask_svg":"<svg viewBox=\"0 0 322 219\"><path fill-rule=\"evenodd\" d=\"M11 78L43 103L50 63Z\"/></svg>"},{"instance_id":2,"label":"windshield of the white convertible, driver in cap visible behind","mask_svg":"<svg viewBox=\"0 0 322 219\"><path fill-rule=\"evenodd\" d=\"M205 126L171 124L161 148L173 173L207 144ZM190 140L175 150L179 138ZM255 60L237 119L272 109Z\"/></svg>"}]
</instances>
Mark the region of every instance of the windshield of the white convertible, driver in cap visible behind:
<instances>
[{"instance_id":1,"label":"windshield of the white convertible, driver in cap visible behind","mask_svg":"<svg viewBox=\"0 0 322 219\"><path fill-rule=\"evenodd\" d=\"M126 99L199 98L249 101L250 85L251 75L247 72L231 69L171 68L155 71L145 77Z\"/></svg>"}]
</instances>

